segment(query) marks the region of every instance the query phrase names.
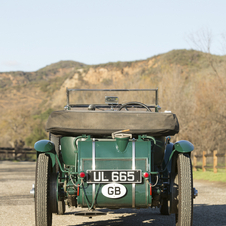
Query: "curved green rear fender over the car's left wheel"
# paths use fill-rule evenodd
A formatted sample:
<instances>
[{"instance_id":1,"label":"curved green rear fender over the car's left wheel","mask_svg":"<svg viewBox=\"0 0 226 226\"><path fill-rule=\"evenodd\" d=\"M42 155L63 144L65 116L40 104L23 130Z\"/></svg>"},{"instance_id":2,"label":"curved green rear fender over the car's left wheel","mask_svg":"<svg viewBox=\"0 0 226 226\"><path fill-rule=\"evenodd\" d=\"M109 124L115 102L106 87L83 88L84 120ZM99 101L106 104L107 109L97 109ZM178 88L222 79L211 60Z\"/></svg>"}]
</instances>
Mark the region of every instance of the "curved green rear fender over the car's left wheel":
<instances>
[{"instance_id":1,"label":"curved green rear fender over the car's left wheel","mask_svg":"<svg viewBox=\"0 0 226 226\"><path fill-rule=\"evenodd\" d=\"M56 164L56 151L55 145L49 140L39 140L34 145L35 150L37 151L37 157L41 153L45 153L50 156L52 167Z\"/></svg>"}]
</instances>

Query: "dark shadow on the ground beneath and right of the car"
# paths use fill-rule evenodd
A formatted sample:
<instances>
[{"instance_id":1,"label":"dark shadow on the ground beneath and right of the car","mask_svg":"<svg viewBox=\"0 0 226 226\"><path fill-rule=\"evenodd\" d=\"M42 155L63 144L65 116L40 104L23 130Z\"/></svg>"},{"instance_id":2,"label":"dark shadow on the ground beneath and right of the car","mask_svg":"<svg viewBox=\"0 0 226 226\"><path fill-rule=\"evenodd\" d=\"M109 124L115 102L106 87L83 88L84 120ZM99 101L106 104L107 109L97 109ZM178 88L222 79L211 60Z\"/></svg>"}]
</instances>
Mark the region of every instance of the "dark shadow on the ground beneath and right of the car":
<instances>
[{"instance_id":1,"label":"dark shadow on the ground beneath and right of the car","mask_svg":"<svg viewBox=\"0 0 226 226\"><path fill-rule=\"evenodd\" d=\"M125 214L122 216L115 216L115 219L109 220L97 220L95 217L89 219L89 217L75 216L84 219L84 222L79 225L91 225L91 226L135 226L135 225L161 225L170 226L175 225L174 215L163 216L159 214L159 209L119 209L119 210L100 210L104 213L110 212L111 218L114 214ZM71 215L76 212L68 212ZM194 205L194 215L193 215L193 225L194 226L226 226L226 205ZM68 226L74 226L70 224Z\"/></svg>"}]
</instances>

